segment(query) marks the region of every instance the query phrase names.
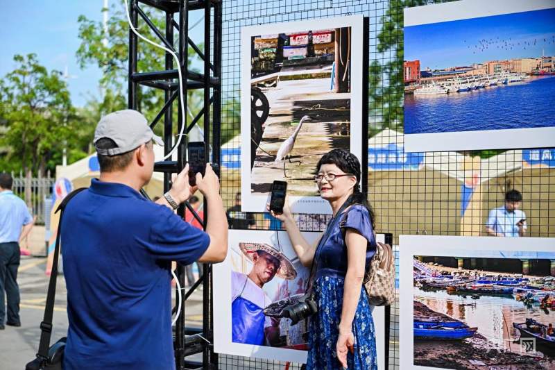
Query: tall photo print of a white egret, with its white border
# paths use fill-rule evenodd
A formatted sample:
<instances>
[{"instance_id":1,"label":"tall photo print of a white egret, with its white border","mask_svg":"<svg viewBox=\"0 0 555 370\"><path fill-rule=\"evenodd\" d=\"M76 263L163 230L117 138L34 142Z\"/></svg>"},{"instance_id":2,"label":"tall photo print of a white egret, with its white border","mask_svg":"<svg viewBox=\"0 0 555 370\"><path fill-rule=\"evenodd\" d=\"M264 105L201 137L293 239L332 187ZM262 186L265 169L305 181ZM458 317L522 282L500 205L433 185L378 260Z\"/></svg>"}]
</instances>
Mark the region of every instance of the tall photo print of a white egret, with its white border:
<instances>
[{"instance_id":1,"label":"tall photo print of a white egret, with its white border","mask_svg":"<svg viewBox=\"0 0 555 370\"><path fill-rule=\"evenodd\" d=\"M243 28L243 210L265 212L282 180L293 212L331 213L314 175L332 149L360 158L361 26L362 17L343 17Z\"/></svg>"}]
</instances>

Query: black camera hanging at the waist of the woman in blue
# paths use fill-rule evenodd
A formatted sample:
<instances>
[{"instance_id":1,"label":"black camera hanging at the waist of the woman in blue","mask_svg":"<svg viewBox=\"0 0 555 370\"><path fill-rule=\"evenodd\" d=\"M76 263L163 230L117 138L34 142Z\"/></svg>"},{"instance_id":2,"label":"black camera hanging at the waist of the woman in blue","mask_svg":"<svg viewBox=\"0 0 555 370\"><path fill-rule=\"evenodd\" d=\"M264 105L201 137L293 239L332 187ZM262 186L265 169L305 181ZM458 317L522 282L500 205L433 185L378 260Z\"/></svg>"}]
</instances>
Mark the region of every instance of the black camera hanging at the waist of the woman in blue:
<instances>
[{"instance_id":1,"label":"black camera hanging at the waist of the woman in blue","mask_svg":"<svg viewBox=\"0 0 555 370\"><path fill-rule=\"evenodd\" d=\"M274 302L264 309L264 314L268 317L291 319L291 325L311 317L318 312L318 305L312 292L307 294L295 294L288 298Z\"/></svg>"}]
</instances>

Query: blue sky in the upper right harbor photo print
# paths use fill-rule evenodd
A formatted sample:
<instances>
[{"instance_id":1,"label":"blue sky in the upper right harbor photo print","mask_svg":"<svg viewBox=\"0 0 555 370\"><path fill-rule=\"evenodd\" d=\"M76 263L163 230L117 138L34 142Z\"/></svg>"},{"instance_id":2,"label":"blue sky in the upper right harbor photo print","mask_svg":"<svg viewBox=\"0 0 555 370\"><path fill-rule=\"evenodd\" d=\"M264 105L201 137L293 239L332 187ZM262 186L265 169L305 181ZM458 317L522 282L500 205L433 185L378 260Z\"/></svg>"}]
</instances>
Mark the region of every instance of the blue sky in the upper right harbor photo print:
<instances>
[{"instance_id":1,"label":"blue sky in the upper right harbor photo print","mask_svg":"<svg viewBox=\"0 0 555 370\"><path fill-rule=\"evenodd\" d=\"M555 56L555 9L404 28L404 60L420 69L487 60Z\"/></svg>"}]
</instances>

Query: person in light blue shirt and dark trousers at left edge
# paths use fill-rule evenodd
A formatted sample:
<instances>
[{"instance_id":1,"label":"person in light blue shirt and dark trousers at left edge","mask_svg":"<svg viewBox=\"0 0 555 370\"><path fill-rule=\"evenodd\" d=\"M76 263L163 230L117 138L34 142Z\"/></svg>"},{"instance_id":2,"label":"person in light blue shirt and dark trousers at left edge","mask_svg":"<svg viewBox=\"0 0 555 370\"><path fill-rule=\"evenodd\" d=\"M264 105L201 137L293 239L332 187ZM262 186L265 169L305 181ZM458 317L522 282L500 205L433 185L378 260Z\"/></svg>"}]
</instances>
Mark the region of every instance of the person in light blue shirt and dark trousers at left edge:
<instances>
[{"instance_id":1,"label":"person in light blue shirt and dark trousers at left edge","mask_svg":"<svg viewBox=\"0 0 555 370\"><path fill-rule=\"evenodd\" d=\"M12 184L10 174L0 174L0 330L4 329L6 303L6 325L22 326L17 285L17 269L21 259L19 244L33 228L33 217L25 202L13 194Z\"/></svg>"}]
</instances>

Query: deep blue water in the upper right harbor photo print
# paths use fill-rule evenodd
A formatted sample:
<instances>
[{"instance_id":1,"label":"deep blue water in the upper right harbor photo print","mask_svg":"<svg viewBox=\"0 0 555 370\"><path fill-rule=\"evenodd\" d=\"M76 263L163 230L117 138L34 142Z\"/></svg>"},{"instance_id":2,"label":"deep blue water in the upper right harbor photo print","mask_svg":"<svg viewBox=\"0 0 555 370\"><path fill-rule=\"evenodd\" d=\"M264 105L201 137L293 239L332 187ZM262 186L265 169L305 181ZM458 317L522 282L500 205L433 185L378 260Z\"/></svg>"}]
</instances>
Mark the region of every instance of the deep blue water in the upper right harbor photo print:
<instances>
[{"instance_id":1,"label":"deep blue water in the upper right harbor photo print","mask_svg":"<svg viewBox=\"0 0 555 370\"><path fill-rule=\"evenodd\" d=\"M404 133L555 126L555 76L469 92L404 97Z\"/></svg>"}]
</instances>

